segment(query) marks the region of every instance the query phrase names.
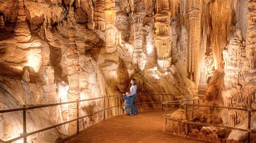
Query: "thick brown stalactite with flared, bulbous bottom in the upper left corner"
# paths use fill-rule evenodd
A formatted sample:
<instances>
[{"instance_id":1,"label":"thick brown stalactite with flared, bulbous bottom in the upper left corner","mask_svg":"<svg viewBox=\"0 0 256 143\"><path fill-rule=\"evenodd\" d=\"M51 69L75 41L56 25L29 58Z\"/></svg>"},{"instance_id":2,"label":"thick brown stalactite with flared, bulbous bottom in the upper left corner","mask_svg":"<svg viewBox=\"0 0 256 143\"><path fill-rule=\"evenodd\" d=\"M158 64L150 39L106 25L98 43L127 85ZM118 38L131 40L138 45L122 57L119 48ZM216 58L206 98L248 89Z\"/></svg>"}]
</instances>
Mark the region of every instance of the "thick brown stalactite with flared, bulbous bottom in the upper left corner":
<instances>
[{"instance_id":1,"label":"thick brown stalactite with flared, bulbous bottom in the upper left corner","mask_svg":"<svg viewBox=\"0 0 256 143\"><path fill-rule=\"evenodd\" d=\"M15 39L19 42L28 42L31 38L31 32L28 24L25 22L24 0L18 2L18 19L14 27Z\"/></svg>"}]
</instances>

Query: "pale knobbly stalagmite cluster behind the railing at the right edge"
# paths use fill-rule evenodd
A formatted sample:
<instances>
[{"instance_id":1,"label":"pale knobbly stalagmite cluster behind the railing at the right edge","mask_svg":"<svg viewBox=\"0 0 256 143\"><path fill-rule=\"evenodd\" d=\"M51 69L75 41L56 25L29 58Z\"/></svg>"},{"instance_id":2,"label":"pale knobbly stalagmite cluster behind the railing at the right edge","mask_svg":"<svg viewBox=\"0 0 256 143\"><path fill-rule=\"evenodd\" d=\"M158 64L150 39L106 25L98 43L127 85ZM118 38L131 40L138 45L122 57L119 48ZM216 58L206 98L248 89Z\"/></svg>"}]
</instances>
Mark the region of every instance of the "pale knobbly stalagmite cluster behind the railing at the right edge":
<instances>
[{"instance_id":1,"label":"pale knobbly stalagmite cluster behind the railing at the right edge","mask_svg":"<svg viewBox=\"0 0 256 143\"><path fill-rule=\"evenodd\" d=\"M242 39L241 30L233 31L233 36L223 51L226 90L222 92L222 97L225 106L247 108L254 102L256 76L255 69L250 64L251 57L246 56L248 48L250 47ZM230 111L225 123L235 126L244 120L241 117L243 114L243 111Z\"/></svg>"}]
</instances>

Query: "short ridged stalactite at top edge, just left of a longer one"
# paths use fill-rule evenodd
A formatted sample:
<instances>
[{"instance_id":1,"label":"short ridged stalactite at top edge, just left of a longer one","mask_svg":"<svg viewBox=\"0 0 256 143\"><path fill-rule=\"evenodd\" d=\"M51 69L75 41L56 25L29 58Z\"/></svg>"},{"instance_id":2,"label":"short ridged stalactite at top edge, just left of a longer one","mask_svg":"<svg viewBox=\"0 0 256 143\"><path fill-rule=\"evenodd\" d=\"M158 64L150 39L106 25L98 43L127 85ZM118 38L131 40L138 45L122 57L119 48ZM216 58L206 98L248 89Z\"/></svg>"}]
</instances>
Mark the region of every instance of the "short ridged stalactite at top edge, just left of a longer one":
<instances>
[{"instance_id":1,"label":"short ridged stalactite at top edge, just left of a longer one","mask_svg":"<svg viewBox=\"0 0 256 143\"><path fill-rule=\"evenodd\" d=\"M96 29L105 30L104 0L97 0L95 2L94 20Z\"/></svg>"}]
</instances>

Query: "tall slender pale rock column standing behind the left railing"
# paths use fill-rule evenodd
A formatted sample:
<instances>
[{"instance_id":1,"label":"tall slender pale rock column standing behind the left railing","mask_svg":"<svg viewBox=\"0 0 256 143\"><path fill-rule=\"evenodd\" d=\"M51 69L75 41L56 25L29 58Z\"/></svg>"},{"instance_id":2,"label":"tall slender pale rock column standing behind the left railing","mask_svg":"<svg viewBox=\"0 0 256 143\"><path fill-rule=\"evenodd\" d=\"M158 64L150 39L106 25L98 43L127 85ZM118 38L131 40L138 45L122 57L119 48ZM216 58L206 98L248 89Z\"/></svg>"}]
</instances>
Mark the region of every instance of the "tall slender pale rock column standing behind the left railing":
<instances>
[{"instance_id":1,"label":"tall slender pale rock column standing behind the left railing","mask_svg":"<svg viewBox=\"0 0 256 143\"><path fill-rule=\"evenodd\" d=\"M66 65L68 67L68 81L69 81L69 90L68 90L68 99L69 101L75 101L79 99L80 90L79 90L79 58L78 50L75 42L75 33L76 29L73 27L68 28L69 35L69 44L67 48L67 61ZM69 104L69 118L76 118L76 105ZM69 124L69 134L73 134L76 131L76 123Z\"/></svg>"}]
</instances>

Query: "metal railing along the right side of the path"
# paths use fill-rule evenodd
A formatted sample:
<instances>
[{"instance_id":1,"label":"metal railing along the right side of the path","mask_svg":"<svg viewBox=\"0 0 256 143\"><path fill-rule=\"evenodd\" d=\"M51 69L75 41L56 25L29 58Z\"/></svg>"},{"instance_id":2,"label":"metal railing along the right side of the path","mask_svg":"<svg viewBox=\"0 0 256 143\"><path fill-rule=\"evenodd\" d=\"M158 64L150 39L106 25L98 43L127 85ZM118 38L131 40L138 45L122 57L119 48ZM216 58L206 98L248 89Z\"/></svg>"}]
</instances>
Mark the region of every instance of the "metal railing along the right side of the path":
<instances>
[{"instance_id":1,"label":"metal railing along the right side of the path","mask_svg":"<svg viewBox=\"0 0 256 143\"><path fill-rule=\"evenodd\" d=\"M205 126L215 126L215 127L223 127L223 128L230 128L232 130L239 130L239 131L244 131L247 132L247 142L250 142L250 138L251 138L251 133L256 133L255 130L251 130L251 112L256 111L255 109L252 109L252 107L248 107L247 109L245 108L234 108L234 107L229 107L229 106L218 106L218 105L198 105L198 104L186 104L186 103L174 103L174 102L178 102L178 101L170 101L170 102L163 102L163 105L166 106L165 108L165 115L163 115L163 117L165 118L165 130L166 130L166 120L170 119L170 120L174 120L174 121L179 121L181 123L185 123L185 135L187 137L188 135L188 127L187 124L196 124L196 125L205 125ZM185 106L185 115L187 115L187 106L201 106L201 107L207 107L207 108L224 108L224 109L234 109L234 110L242 110L242 111L247 111L248 112L248 126L247 129L243 129L243 128L238 128L238 127L232 127L232 126L226 126L226 125L217 125L217 124L207 124L207 123L199 123L199 122L194 122L194 121L189 121L187 119L185 120L180 120L180 119L173 119L170 117L167 117L167 106L168 105L183 105Z\"/></svg>"}]
</instances>

